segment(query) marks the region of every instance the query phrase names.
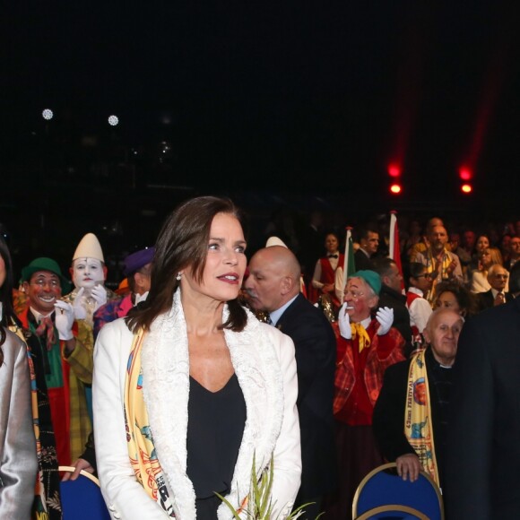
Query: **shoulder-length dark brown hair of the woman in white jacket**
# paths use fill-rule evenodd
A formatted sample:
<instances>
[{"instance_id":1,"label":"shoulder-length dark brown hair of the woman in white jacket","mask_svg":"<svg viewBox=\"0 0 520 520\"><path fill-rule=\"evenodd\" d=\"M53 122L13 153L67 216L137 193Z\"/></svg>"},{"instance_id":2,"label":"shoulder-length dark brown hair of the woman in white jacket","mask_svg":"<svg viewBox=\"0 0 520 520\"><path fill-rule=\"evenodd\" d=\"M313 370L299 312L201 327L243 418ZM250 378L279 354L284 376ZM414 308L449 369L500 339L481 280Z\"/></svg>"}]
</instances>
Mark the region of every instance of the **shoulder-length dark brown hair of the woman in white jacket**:
<instances>
[{"instance_id":1,"label":"shoulder-length dark brown hair of the woman in white jacket","mask_svg":"<svg viewBox=\"0 0 520 520\"><path fill-rule=\"evenodd\" d=\"M169 310L180 271L190 266L195 280L203 281L212 221L218 213L230 214L242 223L237 206L228 198L215 196L190 199L169 214L155 244L148 298L126 316L130 330L149 330L152 321ZM243 330L247 323L245 309L238 299L230 300L228 306L230 317L221 328Z\"/></svg>"}]
</instances>

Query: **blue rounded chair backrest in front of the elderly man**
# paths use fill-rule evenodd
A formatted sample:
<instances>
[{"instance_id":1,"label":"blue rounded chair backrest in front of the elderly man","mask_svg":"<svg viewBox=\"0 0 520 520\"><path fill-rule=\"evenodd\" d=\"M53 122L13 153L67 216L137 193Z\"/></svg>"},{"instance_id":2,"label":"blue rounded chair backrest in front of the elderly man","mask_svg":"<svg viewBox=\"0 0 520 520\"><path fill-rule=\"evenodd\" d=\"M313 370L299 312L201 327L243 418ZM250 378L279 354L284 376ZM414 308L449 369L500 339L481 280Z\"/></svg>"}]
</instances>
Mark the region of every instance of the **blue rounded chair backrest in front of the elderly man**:
<instances>
[{"instance_id":1,"label":"blue rounded chair backrest in front of the elderly man","mask_svg":"<svg viewBox=\"0 0 520 520\"><path fill-rule=\"evenodd\" d=\"M429 520L444 520L442 495L429 474L420 472L417 481L403 481L395 466L382 464L360 482L352 500L352 518L374 507L399 505L413 507Z\"/></svg>"}]
</instances>

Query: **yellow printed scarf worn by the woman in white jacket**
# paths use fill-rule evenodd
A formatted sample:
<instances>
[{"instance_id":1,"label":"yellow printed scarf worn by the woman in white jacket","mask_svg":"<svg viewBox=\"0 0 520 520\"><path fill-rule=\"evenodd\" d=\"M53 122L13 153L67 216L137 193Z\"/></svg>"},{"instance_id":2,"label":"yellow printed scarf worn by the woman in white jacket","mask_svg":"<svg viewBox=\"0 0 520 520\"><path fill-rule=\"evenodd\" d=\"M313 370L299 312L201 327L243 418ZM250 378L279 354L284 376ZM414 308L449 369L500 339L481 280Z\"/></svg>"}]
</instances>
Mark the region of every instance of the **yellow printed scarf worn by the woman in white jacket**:
<instances>
[{"instance_id":1,"label":"yellow printed scarf worn by the woman in white jacket","mask_svg":"<svg viewBox=\"0 0 520 520\"><path fill-rule=\"evenodd\" d=\"M141 371L143 339L143 330L134 334L134 342L126 365L125 424L128 456L135 477L148 496L158 502L169 516L175 518L166 479L155 453L148 412L146 412L143 398L143 373Z\"/></svg>"}]
</instances>

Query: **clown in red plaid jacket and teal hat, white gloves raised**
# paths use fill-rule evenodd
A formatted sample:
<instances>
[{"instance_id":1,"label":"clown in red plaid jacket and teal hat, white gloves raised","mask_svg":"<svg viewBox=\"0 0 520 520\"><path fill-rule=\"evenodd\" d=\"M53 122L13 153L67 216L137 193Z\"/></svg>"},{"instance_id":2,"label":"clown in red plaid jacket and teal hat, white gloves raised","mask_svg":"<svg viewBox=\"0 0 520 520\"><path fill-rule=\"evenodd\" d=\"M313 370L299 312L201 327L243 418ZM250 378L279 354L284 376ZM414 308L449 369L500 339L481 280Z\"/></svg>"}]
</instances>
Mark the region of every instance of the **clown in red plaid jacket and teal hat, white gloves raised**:
<instances>
[{"instance_id":1,"label":"clown in red plaid jacket and teal hat, white gloves raised","mask_svg":"<svg viewBox=\"0 0 520 520\"><path fill-rule=\"evenodd\" d=\"M381 279L361 270L352 274L340 308L336 342L334 419L338 451L337 493L325 500L326 518L344 520L363 477L383 463L372 432L372 412L390 365L404 360L403 336L394 311L377 308Z\"/></svg>"}]
</instances>

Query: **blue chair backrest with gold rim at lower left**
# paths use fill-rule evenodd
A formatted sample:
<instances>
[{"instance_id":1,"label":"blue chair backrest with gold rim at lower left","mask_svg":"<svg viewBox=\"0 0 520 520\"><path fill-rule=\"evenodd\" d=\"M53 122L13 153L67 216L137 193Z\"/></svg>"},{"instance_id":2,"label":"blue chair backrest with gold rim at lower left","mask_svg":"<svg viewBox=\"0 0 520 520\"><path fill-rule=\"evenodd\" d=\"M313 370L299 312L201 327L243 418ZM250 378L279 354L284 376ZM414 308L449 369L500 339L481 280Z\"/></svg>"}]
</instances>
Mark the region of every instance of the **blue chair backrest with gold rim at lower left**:
<instances>
[{"instance_id":1,"label":"blue chair backrest with gold rim at lower left","mask_svg":"<svg viewBox=\"0 0 520 520\"><path fill-rule=\"evenodd\" d=\"M73 466L59 466L60 472L74 472ZM110 520L101 495L100 481L82 470L75 481L60 482L63 520Z\"/></svg>"}]
</instances>

